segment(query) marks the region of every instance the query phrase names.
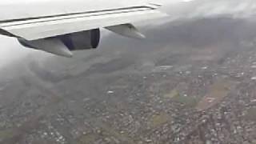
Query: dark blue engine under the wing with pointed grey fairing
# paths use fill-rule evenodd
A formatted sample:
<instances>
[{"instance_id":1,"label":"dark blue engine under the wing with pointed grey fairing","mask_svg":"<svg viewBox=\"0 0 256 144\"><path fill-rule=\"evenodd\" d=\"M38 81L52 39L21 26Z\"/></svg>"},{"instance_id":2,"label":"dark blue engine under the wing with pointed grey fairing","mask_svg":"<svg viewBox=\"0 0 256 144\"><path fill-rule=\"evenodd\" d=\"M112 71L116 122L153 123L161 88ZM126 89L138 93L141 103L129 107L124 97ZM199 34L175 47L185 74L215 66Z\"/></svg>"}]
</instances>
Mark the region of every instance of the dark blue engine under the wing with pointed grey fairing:
<instances>
[{"instance_id":1,"label":"dark blue engine under the wing with pointed grey fairing","mask_svg":"<svg viewBox=\"0 0 256 144\"><path fill-rule=\"evenodd\" d=\"M100 42L100 30L86 30L34 41L18 38L18 42L20 42L22 46L32 49L44 50L52 54L71 57L72 53L70 51L97 48Z\"/></svg>"}]
</instances>

